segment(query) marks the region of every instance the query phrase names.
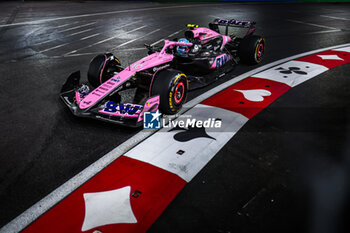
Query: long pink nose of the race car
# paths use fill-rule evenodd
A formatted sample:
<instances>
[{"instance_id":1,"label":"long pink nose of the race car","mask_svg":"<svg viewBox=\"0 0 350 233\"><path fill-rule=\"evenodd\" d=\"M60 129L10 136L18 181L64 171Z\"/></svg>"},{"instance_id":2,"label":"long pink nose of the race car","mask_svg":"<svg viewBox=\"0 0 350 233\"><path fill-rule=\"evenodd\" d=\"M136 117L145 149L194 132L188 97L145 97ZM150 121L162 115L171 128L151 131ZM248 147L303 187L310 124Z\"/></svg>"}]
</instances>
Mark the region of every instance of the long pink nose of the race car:
<instances>
[{"instance_id":1,"label":"long pink nose of the race car","mask_svg":"<svg viewBox=\"0 0 350 233\"><path fill-rule=\"evenodd\" d=\"M136 72L141 70L146 70L154 66L158 66L164 63L168 63L173 60L174 55L167 54L165 51L168 47L182 45L182 46L192 46L192 43L183 43L175 41L164 41L164 47L160 52L153 53L122 70L118 74L114 75L112 78L101 84L95 90L90 92L80 103L80 109L88 109L94 106L99 100L106 97L117 87L127 81L130 77L136 74Z\"/></svg>"}]
</instances>

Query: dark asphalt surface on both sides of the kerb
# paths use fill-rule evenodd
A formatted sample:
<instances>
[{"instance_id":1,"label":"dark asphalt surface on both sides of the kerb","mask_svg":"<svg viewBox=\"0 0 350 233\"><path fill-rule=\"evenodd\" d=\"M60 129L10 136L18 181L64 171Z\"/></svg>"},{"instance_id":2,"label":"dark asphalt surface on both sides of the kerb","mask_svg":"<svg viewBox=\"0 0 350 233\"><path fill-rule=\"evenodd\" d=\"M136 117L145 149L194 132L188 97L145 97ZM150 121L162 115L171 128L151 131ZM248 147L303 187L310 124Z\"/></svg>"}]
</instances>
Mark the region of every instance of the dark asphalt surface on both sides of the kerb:
<instances>
[{"instance_id":1,"label":"dark asphalt surface on both sides of the kerb","mask_svg":"<svg viewBox=\"0 0 350 233\"><path fill-rule=\"evenodd\" d=\"M348 4L0 4L1 226L139 131L75 118L60 103L66 77L86 73L95 54L126 65L144 43L217 17L258 22L263 64L350 38ZM238 66L189 99L254 68ZM149 232L346 232L349 71L323 73L250 120ZM339 215L316 214L323 208Z\"/></svg>"}]
</instances>

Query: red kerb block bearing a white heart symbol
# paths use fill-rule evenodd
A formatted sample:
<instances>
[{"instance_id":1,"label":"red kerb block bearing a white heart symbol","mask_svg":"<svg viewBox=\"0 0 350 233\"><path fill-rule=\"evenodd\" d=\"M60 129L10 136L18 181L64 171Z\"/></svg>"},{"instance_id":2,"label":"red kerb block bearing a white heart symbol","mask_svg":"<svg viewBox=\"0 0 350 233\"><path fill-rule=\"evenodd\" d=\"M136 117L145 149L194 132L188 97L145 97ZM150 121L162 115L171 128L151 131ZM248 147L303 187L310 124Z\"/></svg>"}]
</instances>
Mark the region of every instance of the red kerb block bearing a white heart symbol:
<instances>
[{"instance_id":1,"label":"red kerb block bearing a white heart symbol","mask_svg":"<svg viewBox=\"0 0 350 233\"><path fill-rule=\"evenodd\" d=\"M290 88L290 86L280 82L249 77L217 93L209 99L204 100L202 104L241 113L248 118L252 118ZM247 99L242 93L242 91L244 92L246 90L253 91L251 92L253 93L251 94L253 97L254 90L266 90L270 92L271 95L261 96L261 93L259 93L261 91L256 91L256 97L261 96L263 100L252 101Z\"/></svg>"}]
</instances>

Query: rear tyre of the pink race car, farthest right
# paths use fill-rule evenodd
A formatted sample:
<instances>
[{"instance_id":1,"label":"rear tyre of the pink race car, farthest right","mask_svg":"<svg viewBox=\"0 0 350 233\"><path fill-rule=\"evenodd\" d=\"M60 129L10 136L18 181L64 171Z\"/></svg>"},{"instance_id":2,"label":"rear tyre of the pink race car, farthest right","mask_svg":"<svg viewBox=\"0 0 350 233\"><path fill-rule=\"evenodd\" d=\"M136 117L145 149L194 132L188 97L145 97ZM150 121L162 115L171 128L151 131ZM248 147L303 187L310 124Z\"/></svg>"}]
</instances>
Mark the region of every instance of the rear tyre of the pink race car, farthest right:
<instances>
[{"instance_id":1,"label":"rear tyre of the pink race car, farthest right","mask_svg":"<svg viewBox=\"0 0 350 233\"><path fill-rule=\"evenodd\" d=\"M261 36L248 36L242 39L238 47L240 60L249 65L259 64L264 56L265 39Z\"/></svg>"}]
</instances>

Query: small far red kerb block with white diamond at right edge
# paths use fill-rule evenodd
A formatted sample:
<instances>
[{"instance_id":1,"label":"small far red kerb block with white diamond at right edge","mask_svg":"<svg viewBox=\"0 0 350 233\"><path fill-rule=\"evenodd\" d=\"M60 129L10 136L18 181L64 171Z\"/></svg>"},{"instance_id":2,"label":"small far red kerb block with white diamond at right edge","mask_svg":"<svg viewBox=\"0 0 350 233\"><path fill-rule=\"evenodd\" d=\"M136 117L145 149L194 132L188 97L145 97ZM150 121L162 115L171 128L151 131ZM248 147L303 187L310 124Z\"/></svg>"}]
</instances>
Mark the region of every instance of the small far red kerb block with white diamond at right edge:
<instances>
[{"instance_id":1,"label":"small far red kerb block with white diamond at right edge","mask_svg":"<svg viewBox=\"0 0 350 233\"><path fill-rule=\"evenodd\" d=\"M350 62L350 53L344 51L329 50L321 53L316 53L310 56L296 59L296 61L311 62L318 65L323 65L329 69L344 65Z\"/></svg>"}]
</instances>

